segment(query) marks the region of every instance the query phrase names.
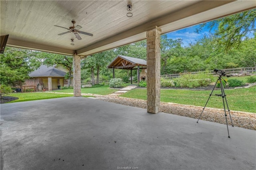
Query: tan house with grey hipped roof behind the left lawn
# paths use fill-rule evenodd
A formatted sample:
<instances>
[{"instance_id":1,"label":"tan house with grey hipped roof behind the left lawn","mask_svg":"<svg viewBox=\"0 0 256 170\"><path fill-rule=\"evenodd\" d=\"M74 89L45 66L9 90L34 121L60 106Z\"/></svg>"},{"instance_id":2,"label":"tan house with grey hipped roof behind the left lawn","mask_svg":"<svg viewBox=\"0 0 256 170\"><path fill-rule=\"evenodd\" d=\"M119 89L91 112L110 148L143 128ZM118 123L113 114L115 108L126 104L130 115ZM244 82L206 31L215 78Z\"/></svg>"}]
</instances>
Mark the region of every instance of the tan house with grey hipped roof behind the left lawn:
<instances>
[{"instance_id":1,"label":"tan house with grey hipped roof behind the left lawn","mask_svg":"<svg viewBox=\"0 0 256 170\"><path fill-rule=\"evenodd\" d=\"M56 68L58 67L58 69ZM55 67L48 67L41 65L37 70L29 74L30 79L25 81L24 86L34 86L36 91L47 89L59 89L63 86L68 86L68 80L65 79L66 69L56 65ZM68 71L68 70L67 70ZM71 78L71 86L73 79Z\"/></svg>"}]
</instances>

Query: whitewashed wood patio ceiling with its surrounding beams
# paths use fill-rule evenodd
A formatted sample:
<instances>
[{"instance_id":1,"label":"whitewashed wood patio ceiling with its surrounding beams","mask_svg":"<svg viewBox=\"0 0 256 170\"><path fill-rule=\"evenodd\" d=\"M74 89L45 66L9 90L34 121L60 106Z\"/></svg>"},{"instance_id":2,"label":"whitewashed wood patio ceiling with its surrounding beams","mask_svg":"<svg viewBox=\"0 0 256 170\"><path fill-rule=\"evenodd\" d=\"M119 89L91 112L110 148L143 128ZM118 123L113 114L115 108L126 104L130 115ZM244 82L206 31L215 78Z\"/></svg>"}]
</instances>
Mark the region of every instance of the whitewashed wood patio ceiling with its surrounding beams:
<instances>
[{"instance_id":1,"label":"whitewashed wood patio ceiling with its surrounding beams","mask_svg":"<svg viewBox=\"0 0 256 170\"><path fill-rule=\"evenodd\" d=\"M162 34L256 8L255 0L1 0L1 35L7 45L65 55L86 56L146 39L158 26ZM132 4L132 17L126 7ZM82 40L66 32L71 21L82 26ZM74 45L70 41L74 39Z\"/></svg>"}]
</instances>

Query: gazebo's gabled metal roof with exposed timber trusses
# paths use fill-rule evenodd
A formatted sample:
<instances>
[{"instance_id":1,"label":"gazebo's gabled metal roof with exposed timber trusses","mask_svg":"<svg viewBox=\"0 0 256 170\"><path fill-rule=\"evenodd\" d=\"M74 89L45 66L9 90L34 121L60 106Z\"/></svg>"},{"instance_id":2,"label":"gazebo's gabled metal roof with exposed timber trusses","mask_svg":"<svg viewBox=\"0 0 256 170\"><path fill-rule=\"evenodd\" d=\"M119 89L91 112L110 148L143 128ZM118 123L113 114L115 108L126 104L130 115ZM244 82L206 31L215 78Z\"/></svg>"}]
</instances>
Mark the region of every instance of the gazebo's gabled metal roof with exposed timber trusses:
<instances>
[{"instance_id":1,"label":"gazebo's gabled metal roof with exposed timber trusses","mask_svg":"<svg viewBox=\"0 0 256 170\"><path fill-rule=\"evenodd\" d=\"M109 65L108 68L114 69L133 69L136 66L147 67L147 61L144 59L118 55Z\"/></svg>"}]
</instances>

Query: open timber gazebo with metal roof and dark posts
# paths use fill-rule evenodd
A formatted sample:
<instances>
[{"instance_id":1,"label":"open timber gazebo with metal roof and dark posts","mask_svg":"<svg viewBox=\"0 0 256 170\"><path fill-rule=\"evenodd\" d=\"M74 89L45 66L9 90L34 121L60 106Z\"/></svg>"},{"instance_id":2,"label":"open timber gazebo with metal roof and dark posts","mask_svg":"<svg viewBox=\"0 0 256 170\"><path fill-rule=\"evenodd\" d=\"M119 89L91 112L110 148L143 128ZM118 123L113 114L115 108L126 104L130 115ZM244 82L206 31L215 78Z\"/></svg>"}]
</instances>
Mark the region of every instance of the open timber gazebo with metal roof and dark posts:
<instances>
[{"instance_id":1,"label":"open timber gazebo with metal roof and dark posts","mask_svg":"<svg viewBox=\"0 0 256 170\"><path fill-rule=\"evenodd\" d=\"M134 68L136 67L137 68ZM141 66L141 67L140 67ZM132 70L137 70L138 83L140 82L140 69L147 68L147 61L144 59L127 57L118 55L109 65L109 69L113 69L113 78L115 78L115 69L131 70L131 84L132 84Z\"/></svg>"}]
</instances>

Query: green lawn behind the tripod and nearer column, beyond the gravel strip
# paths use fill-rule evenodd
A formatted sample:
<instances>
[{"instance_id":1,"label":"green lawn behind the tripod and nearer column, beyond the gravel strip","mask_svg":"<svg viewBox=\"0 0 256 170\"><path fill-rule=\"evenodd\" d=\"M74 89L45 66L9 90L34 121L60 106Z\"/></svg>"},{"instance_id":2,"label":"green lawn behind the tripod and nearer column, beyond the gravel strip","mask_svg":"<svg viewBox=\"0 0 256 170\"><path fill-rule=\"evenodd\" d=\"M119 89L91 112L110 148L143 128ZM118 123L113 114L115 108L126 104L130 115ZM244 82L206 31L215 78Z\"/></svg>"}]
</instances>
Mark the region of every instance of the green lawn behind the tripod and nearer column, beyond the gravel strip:
<instances>
[{"instance_id":1,"label":"green lawn behind the tripod and nearer column, beyond the gravel strip","mask_svg":"<svg viewBox=\"0 0 256 170\"><path fill-rule=\"evenodd\" d=\"M162 89L160 100L204 107L210 93L211 91ZM221 94L221 92L220 90L214 90L212 94ZM248 89L225 90L225 94L230 110L256 113L256 86ZM147 91L146 89L133 89L120 96L146 100ZM206 107L223 109L222 98L212 95Z\"/></svg>"}]
</instances>

